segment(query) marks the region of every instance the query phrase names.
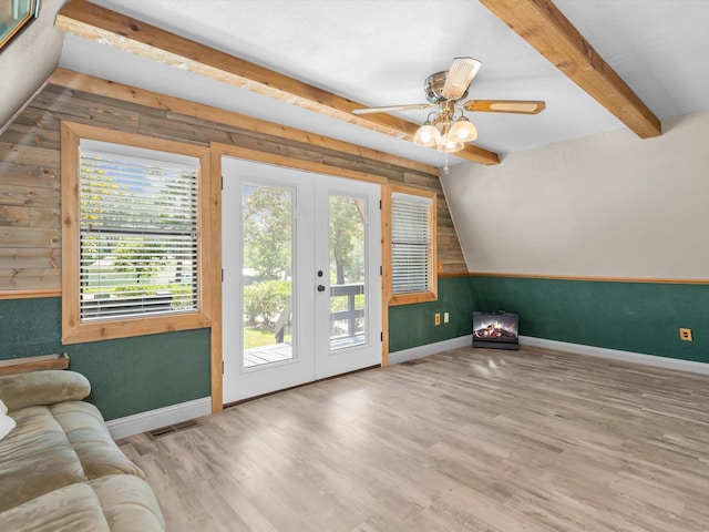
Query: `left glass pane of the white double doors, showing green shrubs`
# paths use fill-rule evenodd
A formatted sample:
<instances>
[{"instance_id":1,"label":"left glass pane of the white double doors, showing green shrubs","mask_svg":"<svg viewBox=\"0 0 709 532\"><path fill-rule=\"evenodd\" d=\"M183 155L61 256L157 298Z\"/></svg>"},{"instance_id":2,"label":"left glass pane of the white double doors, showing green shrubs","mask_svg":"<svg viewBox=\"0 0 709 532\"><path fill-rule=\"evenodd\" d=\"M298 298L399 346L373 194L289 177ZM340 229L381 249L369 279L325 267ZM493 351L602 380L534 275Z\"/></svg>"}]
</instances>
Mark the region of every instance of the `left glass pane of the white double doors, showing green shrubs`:
<instances>
[{"instance_id":1,"label":"left glass pane of the white double doors, showing green shrubs","mask_svg":"<svg viewBox=\"0 0 709 532\"><path fill-rule=\"evenodd\" d=\"M294 358L294 192L243 186L244 368Z\"/></svg>"}]
</instances>

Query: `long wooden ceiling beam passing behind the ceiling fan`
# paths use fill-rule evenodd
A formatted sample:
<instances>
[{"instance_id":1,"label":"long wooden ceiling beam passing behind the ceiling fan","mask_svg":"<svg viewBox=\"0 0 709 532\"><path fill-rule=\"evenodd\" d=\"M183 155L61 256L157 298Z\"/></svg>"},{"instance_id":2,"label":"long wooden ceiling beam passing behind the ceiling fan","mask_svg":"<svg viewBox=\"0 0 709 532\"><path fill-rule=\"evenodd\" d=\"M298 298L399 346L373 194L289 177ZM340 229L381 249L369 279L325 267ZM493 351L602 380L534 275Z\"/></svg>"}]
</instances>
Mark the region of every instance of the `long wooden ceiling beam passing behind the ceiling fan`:
<instances>
[{"instance_id":1,"label":"long wooden ceiling beam passing behind the ceiling fan","mask_svg":"<svg viewBox=\"0 0 709 532\"><path fill-rule=\"evenodd\" d=\"M389 114L354 115L352 110L367 105L86 0L70 0L56 14L54 25L84 39L106 43L120 50L397 139L412 142L419 127L419 124ZM500 156L496 153L472 144L456 152L455 156L482 164L500 163Z\"/></svg>"}]
</instances>

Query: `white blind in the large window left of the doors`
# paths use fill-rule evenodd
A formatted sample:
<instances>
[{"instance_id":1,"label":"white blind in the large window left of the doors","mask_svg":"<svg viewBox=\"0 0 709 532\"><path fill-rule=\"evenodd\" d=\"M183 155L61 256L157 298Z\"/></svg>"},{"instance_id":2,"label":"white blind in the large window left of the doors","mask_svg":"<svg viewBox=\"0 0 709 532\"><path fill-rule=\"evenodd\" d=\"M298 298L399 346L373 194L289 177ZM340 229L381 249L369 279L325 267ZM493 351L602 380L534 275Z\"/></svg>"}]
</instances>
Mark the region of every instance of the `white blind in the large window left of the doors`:
<instances>
[{"instance_id":1,"label":"white blind in the large window left of the doors","mask_svg":"<svg viewBox=\"0 0 709 532\"><path fill-rule=\"evenodd\" d=\"M125 150L81 143L82 323L197 308L199 162Z\"/></svg>"}]
</instances>

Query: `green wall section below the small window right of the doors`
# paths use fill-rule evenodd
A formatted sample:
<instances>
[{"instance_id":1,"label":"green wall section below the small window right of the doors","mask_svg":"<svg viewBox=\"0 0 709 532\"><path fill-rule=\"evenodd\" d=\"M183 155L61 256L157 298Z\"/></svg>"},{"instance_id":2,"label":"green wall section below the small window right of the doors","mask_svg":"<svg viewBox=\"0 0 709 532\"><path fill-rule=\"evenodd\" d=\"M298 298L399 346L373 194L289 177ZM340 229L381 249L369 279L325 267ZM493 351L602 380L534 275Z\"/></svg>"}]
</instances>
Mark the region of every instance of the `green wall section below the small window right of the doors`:
<instances>
[{"instance_id":1,"label":"green wall section below the small window right of the doors","mask_svg":"<svg viewBox=\"0 0 709 532\"><path fill-rule=\"evenodd\" d=\"M389 308L389 352L470 335L473 310L467 276L440 278L438 301ZM436 313L441 313L439 326L433 319ZM443 323L443 313L450 315L448 324Z\"/></svg>"}]
</instances>

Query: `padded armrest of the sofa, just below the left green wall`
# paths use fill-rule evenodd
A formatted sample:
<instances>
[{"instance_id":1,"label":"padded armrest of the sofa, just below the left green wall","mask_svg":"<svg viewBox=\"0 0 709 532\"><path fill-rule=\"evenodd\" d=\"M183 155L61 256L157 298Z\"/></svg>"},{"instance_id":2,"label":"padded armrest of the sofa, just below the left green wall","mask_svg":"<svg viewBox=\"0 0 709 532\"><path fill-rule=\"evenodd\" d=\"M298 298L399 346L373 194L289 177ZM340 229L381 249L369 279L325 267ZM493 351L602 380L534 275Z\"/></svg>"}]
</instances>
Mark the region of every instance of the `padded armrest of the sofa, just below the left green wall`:
<instances>
[{"instance_id":1,"label":"padded armrest of the sofa, just below the left green wall","mask_svg":"<svg viewBox=\"0 0 709 532\"><path fill-rule=\"evenodd\" d=\"M8 410L80 401L91 392L89 380L75 371L48 370L0 377L0 399Z\"/></svg>"}]
</instances>

